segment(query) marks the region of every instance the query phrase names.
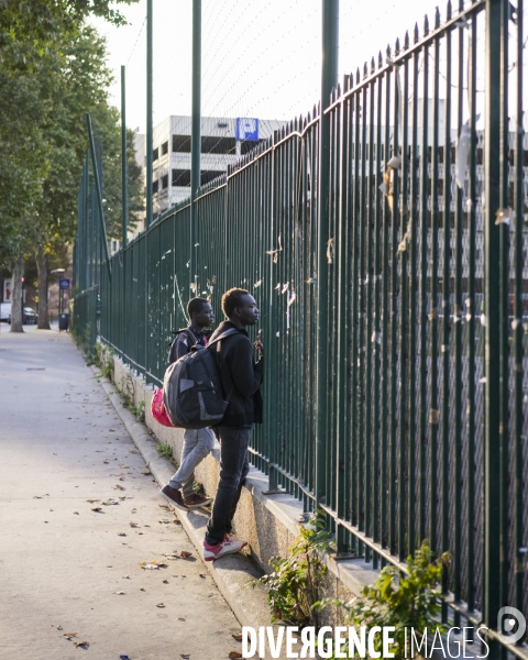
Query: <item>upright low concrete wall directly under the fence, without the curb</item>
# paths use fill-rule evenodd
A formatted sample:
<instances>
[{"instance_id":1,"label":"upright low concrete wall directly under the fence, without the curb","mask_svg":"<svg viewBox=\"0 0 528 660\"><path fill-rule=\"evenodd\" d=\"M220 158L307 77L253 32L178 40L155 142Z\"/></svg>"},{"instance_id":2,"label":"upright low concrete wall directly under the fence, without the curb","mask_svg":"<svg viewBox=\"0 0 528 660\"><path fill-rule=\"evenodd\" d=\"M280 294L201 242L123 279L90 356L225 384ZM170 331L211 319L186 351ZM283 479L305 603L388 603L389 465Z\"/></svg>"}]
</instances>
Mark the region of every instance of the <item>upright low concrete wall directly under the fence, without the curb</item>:
<instances>
[{"instance_id":1,"label":"upright low concrete wall directly under the fence, without the curb","mask_svg":"<svg viewBox=\"0 0 528 660\"><path fill-rule=\"evenodd\" d=\"M163 427L151 415L152 385L125 366L120 359L113 356L113 381L117 387L127 393L135 406L145 403L145 424L160 442L169 444L174 455L179 457L183 446L183 430ZM204 460L196 470L196 480L204 484L208 495L215 495L219 479L220 448ZM266 494L267 476L252 468L246 485L242 491L234 519L237 534L248 539L252 557L264 571L268 570L268 561L279 554L286 557L289 547L298 536L298 520L302 516L302 505L287 494ZM360 559L336 559L328 553L324 561L329 569L321 596L339 597L349 601L358 595L365 584L374 582L378 571L372 563ZM324 623L331 625L340 619L336 610L324 610Z\"/></svg>"}]
</instances>

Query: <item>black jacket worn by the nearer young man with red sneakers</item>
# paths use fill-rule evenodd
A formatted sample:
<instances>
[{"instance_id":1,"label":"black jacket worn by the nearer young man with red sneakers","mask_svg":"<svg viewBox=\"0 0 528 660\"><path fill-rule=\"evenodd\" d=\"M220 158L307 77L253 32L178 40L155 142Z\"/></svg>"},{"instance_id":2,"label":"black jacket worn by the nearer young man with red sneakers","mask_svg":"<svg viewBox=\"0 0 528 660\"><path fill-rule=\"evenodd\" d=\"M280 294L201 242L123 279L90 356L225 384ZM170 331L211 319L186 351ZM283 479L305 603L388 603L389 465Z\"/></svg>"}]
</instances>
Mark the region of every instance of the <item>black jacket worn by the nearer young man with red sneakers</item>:
<instances>
[{"instance_id":1,"label":"black jacket worn by the nearer young man with red sneakers","mask_svg":"<svg viewBox=\"0 0 528 660\"><path fill-rule=\"evenodd\" d=\"M215 330L209 341L226 330L237 328L231 321L223 321ZM231 392L229 406L219 426L243 427L262 422L262 395L260 386L263 378L263 360L253 360L253 345L248 332L239 330L213 344L210 349L217 353L220 377L226 396Z\"/></svg>"}]
</instances>

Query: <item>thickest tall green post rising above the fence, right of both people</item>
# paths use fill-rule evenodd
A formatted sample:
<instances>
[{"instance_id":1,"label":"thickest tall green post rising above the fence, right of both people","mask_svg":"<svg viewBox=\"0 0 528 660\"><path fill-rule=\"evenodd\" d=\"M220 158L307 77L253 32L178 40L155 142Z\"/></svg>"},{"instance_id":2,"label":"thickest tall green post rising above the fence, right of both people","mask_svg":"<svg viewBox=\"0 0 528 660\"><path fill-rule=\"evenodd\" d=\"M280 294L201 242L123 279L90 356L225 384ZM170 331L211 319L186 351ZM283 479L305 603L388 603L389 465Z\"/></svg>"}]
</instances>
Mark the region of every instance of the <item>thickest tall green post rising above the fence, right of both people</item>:
<instances>
[{"instance_id":1,"label":"thickest tall green post rising above the fence, right of both people","mask_svg":"<svg viewBox=\"0 0 528 660\"><path fill-rule=\"evenodd\" d=\"M316 506L324 495L328 436L328 345L330 314L328 296L328 241L330 210L330 103L338 86L339 0L322 0L322 70L319 117L318 263L317 263L317 398L316 398Z\"/></svg>"}]
</instances>

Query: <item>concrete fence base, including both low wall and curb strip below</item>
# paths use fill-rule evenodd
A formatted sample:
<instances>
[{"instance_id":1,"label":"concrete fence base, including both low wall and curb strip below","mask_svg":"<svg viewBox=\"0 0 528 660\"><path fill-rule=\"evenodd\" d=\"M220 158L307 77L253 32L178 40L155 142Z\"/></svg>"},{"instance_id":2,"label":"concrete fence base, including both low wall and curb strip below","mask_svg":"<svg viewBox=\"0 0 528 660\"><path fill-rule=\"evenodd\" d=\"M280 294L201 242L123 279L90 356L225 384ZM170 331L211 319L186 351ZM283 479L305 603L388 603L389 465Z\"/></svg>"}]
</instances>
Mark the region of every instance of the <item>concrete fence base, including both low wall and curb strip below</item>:
<instances>
[{"instance_id":1,"label":"concrete fence base, including both low wall and curb strip below","mask_svg":"<svg viewBox=\"0 0 528 660\"><path fill-rule=\"evenodd\" d=\"M114 387L110 383L101 384L151 468L154 477L163 486L173 475L174 466L160 457L155 449L156 440L153 435L158 441L169 444L175 455L179 455L183 432L180 429L163 427L153 419L150 413L154 391L152 386L145 385L144 381L116 355L113 355L113 366L116 386L125 392L135 406L144 402L145 424L138 422L135 417L122 406L119 395L114 393ZM220 450L216 447L196 470L197 481L202 483L206 492L210 494L217 490L219 459ZM252 468L234 519L238 535L248 539L252 560L262 572L267 571L272 557L287 554L289 547L298 536L299 518L302 515L302 505L299 501L286 493L266 494L267 488L267 476ZM185 514L178 510L178 517L201 557L207 515L205 513ZM363 586L374 582L378 575L378 571L372 568L372 563L366 563L361 559L337 560L332 553L328 553L324 556L324 562L328 566L328 574L322 595L329 597L349 601L354 595L359 595ZM215 568L211 564L215 564ZM226 557L216 562L207 562L206 565L242 625L253 627L270 625L270 609L265 591L251 590L245 586L248 582L258 575L252 561L242 556L240 558ZM340 613L328 608L322 618L327 625L332 625L340 622Z\"/></svg>"}]
</instances>

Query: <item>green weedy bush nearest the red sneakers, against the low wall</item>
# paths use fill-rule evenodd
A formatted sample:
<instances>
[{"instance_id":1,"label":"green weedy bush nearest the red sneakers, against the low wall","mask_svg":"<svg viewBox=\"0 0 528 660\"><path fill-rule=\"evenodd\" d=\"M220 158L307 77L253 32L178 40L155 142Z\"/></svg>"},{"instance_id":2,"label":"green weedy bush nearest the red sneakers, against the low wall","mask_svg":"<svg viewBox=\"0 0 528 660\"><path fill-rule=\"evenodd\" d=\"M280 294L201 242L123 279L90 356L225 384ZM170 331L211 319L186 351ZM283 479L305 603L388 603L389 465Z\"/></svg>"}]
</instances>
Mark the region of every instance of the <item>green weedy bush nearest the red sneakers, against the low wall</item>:
<instances>
[{"instance_id":1,"label":"green weedy bush nearest the red sneakers, against the low wall","mask_svg":"<svg viewBox=\"0 0 528 660\"><path fill-rule=\"evenodd\" d=\"M321 552L330 544L330 534L324 529L324 518L318 514L314 526L300 527L299 537L292 546L288 557L274 557L270 563L273 572L251 582L251 586L264 585L272 622L282 620L294 626L316 623L317 591L327 568Z\"/></svg>"}]
</instances>

